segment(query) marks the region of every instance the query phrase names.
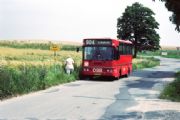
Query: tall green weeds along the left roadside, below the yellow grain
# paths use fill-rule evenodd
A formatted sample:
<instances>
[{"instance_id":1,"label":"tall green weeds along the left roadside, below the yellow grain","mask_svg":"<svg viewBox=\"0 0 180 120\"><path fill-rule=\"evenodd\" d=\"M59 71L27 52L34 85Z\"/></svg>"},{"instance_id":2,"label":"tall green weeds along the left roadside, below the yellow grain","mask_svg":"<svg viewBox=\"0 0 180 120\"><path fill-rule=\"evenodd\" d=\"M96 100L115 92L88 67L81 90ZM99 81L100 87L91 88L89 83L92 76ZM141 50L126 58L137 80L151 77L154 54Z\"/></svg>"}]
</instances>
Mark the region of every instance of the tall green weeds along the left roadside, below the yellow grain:
<instances>
[{"instance_id":1,"label":"tall green weeds along the left roadside, below the yellow grain","mask_svg":"<svg viewBox=\"0 0 180 120\"><path fill-rule=\"evenodd\" d=\"M71 75L66 74L64 66L59 64L0 66L0 99L74 81L78 79L78 71L77 65Z\"/></svg>"}]
</instances>

